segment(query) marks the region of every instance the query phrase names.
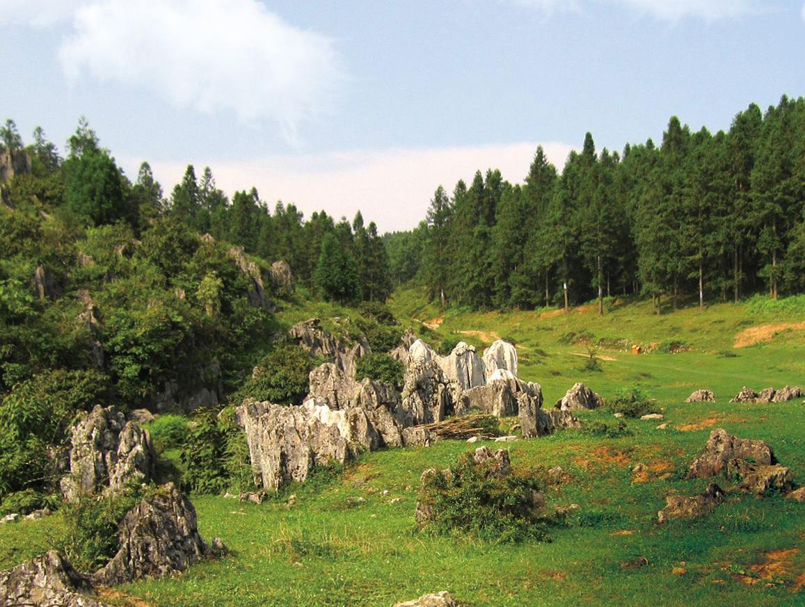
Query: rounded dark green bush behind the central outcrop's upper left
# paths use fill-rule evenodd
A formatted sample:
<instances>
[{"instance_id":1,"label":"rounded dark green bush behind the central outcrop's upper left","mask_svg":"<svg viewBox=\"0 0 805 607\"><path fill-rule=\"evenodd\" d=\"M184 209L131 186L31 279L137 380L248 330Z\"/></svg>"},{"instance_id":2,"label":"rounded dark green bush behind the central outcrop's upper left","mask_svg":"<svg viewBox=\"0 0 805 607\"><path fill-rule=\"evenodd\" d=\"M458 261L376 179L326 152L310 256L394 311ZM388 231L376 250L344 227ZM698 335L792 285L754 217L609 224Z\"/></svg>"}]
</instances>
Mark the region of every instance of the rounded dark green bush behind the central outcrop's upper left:
<instances>
[{"instance_id":1,"label":"rounded dark green bush behind the central outcrop's upper left","mask_svg":"<svg viewBox=\"0 0 805 607\"><path fill-rule=\"evenodd\" d=\"M275 347L254 368L237 398L268 400L274 404L302 404L308 394L313 359L308 351L294 343L283 342Z\"/></svg>"}]
</instances>

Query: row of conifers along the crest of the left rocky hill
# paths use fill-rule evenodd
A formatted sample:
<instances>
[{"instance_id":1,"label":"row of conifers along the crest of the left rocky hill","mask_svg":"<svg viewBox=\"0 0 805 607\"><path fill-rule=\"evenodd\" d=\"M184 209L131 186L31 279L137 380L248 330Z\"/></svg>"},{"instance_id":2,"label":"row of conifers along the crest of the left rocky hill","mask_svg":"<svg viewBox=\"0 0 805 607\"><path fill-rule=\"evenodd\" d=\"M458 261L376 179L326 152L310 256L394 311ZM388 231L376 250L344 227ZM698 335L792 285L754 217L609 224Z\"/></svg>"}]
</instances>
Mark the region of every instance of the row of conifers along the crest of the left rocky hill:
<instances>
[{"instance_id":1,"label":"row of conifers along the crest of the left rocky hill","mask_svg":"<svg viewBox=\"0 0 805 607\"><path fill-rule=\"evenodd\" d=\"M89 226L128 224L137 236L161 219L175 218L199 234L241 246L264 260L285 260L299 285L344 303L384 301L390 294L389 260L374 222L360 211L350 223L325 211L304 219L293 204L276 203L273 212L253 187L230 200L205 167L200 178L188 165L170 195L143 162L134 182L117 166L85 119L70 137L67 158L37 128L23 144L14 121L0 127L0 153L27 154L30 172L2 186L6 203L30 199Z\"/></svg>"}]
</instances>

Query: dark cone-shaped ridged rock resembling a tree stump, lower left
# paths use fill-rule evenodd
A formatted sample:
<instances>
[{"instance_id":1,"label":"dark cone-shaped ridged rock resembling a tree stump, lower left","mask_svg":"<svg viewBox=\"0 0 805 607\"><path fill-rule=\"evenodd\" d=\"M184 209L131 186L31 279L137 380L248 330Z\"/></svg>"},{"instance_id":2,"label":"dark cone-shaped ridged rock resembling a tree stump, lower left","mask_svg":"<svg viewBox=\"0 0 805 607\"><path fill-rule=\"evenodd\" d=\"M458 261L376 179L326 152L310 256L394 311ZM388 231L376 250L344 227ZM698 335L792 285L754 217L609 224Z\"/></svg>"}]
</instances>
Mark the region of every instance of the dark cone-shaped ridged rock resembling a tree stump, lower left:
<instances>
[{"instance_id":1,"label":"dark cone-shaped ridged rock resembling a tree stump, lower left","mask_svg":"<svg viewBox=\"0 0 805 607\"><path fill-rule=\"evenodd\" d=\"M121 523L120 549L99 571L95 584L126 584L181 572L210 554L190 500L168 483L143 498Z\"/></svg>"}]
</instances>

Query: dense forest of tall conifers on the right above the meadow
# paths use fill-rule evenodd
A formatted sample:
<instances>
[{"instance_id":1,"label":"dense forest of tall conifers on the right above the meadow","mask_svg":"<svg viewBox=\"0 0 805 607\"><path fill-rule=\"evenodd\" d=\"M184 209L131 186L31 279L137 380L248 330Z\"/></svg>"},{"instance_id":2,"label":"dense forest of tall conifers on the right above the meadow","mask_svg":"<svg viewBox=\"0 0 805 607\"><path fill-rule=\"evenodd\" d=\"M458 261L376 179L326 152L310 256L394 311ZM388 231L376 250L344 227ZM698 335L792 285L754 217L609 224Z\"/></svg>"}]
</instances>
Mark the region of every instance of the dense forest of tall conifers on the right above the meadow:
<instances>
[{"instance_id":1,"label":"dense forest of tall conifers on the right above the meadow","mask_svg":"<svg viewBox=\"0 0 805 607\"><path fill-rule=\"evenodd\" d=\"M436 189L411 232L386 235L394 281L473 309L605 297L738 301L805 291L805 98L738 113L728 132L671 117L663 141L597 152L561 174L539 147L522 185L499 170Z\"/></svg>"}]
</instances>

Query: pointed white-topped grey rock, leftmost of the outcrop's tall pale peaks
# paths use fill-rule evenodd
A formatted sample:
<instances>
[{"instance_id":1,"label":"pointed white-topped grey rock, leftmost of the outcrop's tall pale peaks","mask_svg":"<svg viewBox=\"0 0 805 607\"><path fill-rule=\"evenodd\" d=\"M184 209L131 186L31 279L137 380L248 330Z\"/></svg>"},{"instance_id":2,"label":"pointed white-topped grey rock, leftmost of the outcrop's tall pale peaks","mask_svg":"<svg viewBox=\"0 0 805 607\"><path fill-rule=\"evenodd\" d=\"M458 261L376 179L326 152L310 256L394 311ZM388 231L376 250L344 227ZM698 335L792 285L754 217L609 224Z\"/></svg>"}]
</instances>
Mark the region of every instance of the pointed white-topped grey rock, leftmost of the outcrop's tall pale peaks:
<instances>
[{"instance_id":1,"label":"pointed white-topped grey rock, leftmost of the outcrop's tall pale peaks","mask_svg":"<svg viewBox=\"0 0 805 607\"><path fill-rule=\"evenodd\" d=\"M414 424L430 424L444 420L453 410L450 383L435 359L427 358L427 350L411 346L403 383L403 411ZM421 354L424 353L425 356Z\"/></svg>"}]
</instances>

